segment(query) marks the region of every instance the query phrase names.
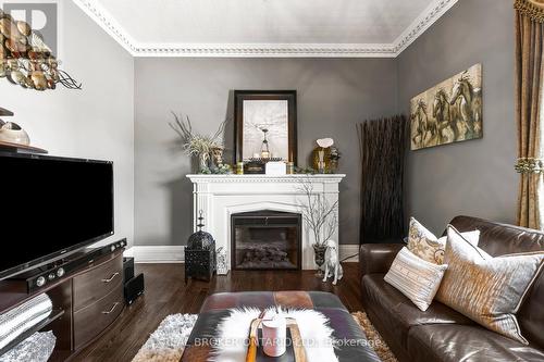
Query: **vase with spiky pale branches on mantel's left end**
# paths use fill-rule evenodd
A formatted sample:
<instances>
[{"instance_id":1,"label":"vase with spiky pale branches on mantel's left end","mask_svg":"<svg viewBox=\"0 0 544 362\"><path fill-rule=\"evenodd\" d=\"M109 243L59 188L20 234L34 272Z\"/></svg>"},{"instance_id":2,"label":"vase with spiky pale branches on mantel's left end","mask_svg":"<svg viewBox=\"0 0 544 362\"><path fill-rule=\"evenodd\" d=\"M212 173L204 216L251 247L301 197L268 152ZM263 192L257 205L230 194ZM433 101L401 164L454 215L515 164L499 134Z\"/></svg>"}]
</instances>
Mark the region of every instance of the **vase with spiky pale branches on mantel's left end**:
<instances>
[{"instance_id":1,"label":"vase with spiky pale branches on mantel's left end","mask_svg":"<svg viewBox=\"0 0 544 362\"><path fill-rule=\"evenodd\" d=\"M212 136L209 136L195 133L187 115L184 117L174 112L172 114L174 122L169 123L169 125L180 136L182 148L187 154L198 158L198 171L200 173L209 173L209 163L213 149L223 148L223 134L226 120L219 125L218 130Z\"/></svg>"}]
</instances>

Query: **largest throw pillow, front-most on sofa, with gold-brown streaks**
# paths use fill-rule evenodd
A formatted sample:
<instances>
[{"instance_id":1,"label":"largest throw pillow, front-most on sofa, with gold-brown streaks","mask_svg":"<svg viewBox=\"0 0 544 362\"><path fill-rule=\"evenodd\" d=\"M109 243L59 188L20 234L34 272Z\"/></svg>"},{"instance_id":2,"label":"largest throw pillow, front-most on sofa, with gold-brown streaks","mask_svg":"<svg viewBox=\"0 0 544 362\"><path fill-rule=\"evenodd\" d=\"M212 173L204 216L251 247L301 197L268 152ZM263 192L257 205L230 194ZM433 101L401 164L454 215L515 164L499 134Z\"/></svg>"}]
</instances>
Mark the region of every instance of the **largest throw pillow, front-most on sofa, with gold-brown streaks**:
<instances>
[{"instance_id":1,"label":"largest throw pillow, front-most on sofa, with gold-brown streaks","mask_svg":"<svg viewBox=\"0 0 544 362\"><path fill-rule=\"evenodd\" d=\"M453 226L444 262L449 266L436 300L487 329L528 345L516 320L523 297L544 263L544 251L493 258Z\"/></svg>"}]
</instances>

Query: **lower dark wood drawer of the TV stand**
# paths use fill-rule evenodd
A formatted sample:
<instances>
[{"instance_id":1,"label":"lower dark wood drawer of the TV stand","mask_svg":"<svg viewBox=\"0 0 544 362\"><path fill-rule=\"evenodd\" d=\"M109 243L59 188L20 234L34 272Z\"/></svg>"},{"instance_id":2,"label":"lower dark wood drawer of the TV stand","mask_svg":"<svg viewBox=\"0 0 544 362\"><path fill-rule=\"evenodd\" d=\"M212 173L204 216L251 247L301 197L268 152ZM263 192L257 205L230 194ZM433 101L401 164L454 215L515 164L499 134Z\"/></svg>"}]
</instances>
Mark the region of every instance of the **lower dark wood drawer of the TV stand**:
<instances>
[{"instance_id":1,"label":"lower dark wood drawer of the TV stand","mask_svg":"<svg viewBox=\"0 0 544 362\"><path fill-rule=\"evenodd\" d=\"M115 288L106 297L74 313L74 346L84 347L112 324L124 308L123 283L118 279Z\"/></svg>"}]
</instances>

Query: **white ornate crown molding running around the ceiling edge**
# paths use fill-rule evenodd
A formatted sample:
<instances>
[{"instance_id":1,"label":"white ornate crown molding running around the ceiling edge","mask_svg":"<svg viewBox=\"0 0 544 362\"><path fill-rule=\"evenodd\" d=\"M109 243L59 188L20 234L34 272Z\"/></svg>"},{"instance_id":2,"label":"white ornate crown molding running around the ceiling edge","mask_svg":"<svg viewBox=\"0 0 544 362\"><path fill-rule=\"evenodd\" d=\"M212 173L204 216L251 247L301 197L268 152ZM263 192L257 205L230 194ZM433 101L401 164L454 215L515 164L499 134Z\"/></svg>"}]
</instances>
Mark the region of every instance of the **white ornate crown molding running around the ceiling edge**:
<instances>
[{"instance_id":1,"label":"white ornate crown molding running around the ceiling edge","mask_svg":"<svg viewBox=\"0 0 544 362\"><path fill-rule=\"evenodd\" d=\"M139 43L97 0L73 0L133 57L396 58L459 0L433 2L393 43Z\"/></svg>"}]
</instances>

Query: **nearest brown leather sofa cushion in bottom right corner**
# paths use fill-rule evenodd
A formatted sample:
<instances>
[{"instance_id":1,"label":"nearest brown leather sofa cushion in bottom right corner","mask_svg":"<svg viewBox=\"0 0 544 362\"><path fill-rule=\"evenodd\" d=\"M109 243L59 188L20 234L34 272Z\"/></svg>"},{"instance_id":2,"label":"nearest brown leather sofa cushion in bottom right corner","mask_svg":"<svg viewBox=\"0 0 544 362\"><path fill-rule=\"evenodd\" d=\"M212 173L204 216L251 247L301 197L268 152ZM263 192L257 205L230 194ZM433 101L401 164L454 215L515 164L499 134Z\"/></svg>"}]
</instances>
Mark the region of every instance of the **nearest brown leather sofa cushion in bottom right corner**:
<instances>
[{"instance_id":1,"label":"nearest brown leather sofa cushion in bottom right corner","mask_svg":"<svg viewBox=\"0 0 544 362\"><path fill-rule=\"evenodd\" d=\"M522 345L478 325L415 326L408 333L408 353L413 361L544 360L544 353L535 346Z\"/></svg>"}]
</instances>

